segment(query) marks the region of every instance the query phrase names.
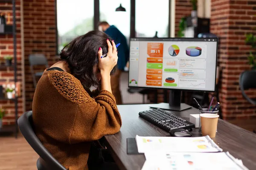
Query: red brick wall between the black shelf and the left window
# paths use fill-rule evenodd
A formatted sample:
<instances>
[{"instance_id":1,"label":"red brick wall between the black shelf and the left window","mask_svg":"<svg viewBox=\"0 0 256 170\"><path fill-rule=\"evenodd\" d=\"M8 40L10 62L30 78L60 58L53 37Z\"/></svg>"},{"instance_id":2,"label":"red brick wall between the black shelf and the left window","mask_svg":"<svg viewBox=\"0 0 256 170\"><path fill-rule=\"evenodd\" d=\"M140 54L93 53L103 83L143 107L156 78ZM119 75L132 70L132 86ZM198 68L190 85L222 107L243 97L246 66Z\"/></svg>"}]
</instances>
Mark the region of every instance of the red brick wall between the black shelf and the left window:
<instances>
[{"instance_id":1,"label":"red brick wall between the black shelf and the left window","mask_svg":"<svg viewBox=\"0 0 256 170\"><path fill-rule=\"evenodd\" d=\"M55 0L23 0L26 110L32 110L35 92L29 54L44 54L52 65L56 61ZM37 70L40 71L40 70Z\"/></svg>"}]
</instances>

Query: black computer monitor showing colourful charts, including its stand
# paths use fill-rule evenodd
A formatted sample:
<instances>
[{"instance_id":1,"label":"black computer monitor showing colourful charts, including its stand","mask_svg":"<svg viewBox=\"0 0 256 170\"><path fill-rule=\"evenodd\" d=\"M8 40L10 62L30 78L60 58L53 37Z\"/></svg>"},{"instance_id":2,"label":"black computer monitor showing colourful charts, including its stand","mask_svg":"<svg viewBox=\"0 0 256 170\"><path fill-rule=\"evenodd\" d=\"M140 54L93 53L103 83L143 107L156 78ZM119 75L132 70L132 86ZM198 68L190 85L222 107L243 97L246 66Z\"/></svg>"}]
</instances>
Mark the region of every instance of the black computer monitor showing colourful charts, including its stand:
<instances>
[{"instance_id":1,"label":"black computer monitor showing colourful charts, including its stand","mask_svg":"<svg viewBox=\"0 0 256 170\"><path fill-rule=\"evenodd\" d=\"M128 87L172 90L170 110L191 108L181 91L215 91L217 46L218 38L131 38Z\"/></svg>"}]
</instances>

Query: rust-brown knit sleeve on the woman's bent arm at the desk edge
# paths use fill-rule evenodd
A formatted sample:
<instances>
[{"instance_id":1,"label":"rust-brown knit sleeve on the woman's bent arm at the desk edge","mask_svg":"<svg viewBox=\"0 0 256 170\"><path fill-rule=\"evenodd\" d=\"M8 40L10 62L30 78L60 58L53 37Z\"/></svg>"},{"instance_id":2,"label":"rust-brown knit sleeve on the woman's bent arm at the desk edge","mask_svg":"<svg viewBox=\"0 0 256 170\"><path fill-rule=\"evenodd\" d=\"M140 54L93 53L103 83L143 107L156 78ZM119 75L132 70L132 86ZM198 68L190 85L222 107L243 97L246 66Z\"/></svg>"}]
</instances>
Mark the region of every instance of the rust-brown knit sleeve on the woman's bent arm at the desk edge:
<instances>
[{"instance_id":1,"label":"rust-brown knit sleeve on the woman's bent arm at the desk edge","mask_svg":"<svg viewBox=\"0 0 256 170\"><path fill-rule=\"evenodd\" d=\"M70 143L94 141L119 132L122 120L114 96L100 91L95 101L80 105L73 124Z\"/></svg>"}]
</instances>

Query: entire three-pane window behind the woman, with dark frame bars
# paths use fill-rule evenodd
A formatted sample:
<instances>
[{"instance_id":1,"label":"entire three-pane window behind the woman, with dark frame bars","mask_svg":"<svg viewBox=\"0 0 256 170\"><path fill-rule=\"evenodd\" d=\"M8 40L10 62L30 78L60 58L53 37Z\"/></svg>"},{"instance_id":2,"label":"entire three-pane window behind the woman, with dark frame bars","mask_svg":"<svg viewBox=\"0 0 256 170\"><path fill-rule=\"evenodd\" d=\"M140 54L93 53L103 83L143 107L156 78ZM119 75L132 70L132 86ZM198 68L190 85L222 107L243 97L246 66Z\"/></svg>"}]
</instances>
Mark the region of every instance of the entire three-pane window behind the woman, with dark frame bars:
<instances>
[{"instance_id":1,"label":"entire three-pane window behind the woman, with dark frame bars","mask_svg":"<svg viewBox=\"0 0 256 170\"><path fill-rule=\"evenodd\" d=\"M120 3L125 12L116 12ZM99 21L116 26L128 42L130 34L154 37L157 31L157 37L169 37L169 3L170 0L56 0L57 51L73 38L97 28ZM135 26L131 6L135 6L135 16L132 10Z\"/></svg>"}]
</instances>

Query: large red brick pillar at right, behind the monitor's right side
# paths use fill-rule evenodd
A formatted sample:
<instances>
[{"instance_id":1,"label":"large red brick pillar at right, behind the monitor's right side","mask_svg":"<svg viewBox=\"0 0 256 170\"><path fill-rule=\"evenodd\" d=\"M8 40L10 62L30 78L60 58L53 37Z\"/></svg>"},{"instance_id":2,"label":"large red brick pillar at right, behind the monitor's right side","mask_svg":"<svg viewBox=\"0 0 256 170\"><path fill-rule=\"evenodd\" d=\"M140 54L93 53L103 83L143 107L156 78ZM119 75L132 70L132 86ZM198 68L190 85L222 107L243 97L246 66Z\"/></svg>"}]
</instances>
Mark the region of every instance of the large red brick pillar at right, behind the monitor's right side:
<instances>
[{"instance_id":1,"label":"large red brick pillar at right, behind the monitor's right side","mask_svg":"<svg viewBox=\"0 0 256 170\"><path fill-rule=\"evenodd\" d=\"M239 89L239 75L250 69L247 60L250 45L244 39L256 27L255 14L256 0L212 0L210 28L219 37L220 102L227 120L256 118L256 107L243 99ZM256 96L256 91L249 93Z\"/></svg>"}]
</instances>

